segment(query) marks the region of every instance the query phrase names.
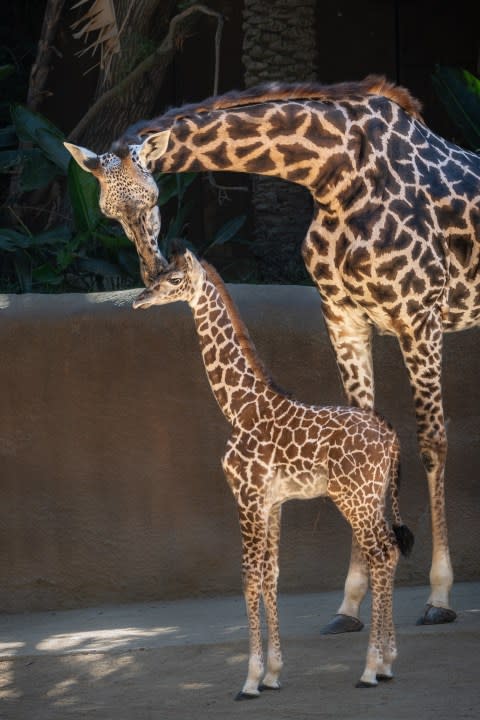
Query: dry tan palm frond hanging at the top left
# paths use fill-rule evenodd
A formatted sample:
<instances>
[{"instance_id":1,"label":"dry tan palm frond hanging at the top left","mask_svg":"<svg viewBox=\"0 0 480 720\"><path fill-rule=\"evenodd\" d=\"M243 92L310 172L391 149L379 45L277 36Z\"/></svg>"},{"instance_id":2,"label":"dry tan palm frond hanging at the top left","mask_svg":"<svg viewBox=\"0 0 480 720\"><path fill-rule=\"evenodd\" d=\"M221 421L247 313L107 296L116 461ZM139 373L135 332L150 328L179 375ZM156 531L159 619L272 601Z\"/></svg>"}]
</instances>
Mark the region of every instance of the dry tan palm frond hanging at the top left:
<instances>
[{"instance_id":1,"label":"dry tan palm frond hanging at the top left","mask_svg":"<svg viewBox=\"0 0 480 720\"><path fill-rule=\"evenodd\" d=\"M71 10L85 5L86 2L91 2L91 0L79 0L79 2L72 5ZM95 40L86 48L80 50L77 55L84 55L89 50L91 50L92 55L100 52L100 67L104 72L104 76L108 76L112 57L120 52L120 31L117 25L113 0L93 0L85 14L74 22L71 27L72 29L78 28L73 33L73 37L75 39L83 38L84 42L88 42L90 33L97 33Z\"/></svg>"}]
</instances>

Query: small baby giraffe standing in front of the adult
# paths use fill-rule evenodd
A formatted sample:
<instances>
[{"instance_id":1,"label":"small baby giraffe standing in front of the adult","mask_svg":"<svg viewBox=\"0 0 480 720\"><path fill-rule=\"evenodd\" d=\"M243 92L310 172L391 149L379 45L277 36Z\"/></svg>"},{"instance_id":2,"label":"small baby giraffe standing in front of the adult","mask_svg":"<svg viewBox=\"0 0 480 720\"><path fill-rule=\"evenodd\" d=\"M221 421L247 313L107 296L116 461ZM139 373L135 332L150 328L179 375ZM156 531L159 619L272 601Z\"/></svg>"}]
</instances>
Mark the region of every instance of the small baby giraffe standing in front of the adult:
<instances>
[{"instance_id":1,"label":"small baby giraffe standing in front of the adult","mask_svg":"<svg viewBox=\"0 0 480 720\"><path fill-rule=\"evenodd\" d=\"M399 550L407 555L413 545L398 507L395 432L370 410L306 405L280 390L258 358L219 275L189 250L172 257L133 307L177 300L192 309L213 394L232 426L222 464L238 507L250 645L247 679L236 699L280 687L280 512L282 503L293 498L327 496L350 523L368 561L372 593L367 659L357 687L389 680L397 654L395 568ZM393 529L386 519L388 490ZM268 627L265 674L261 597Z\"/></svg>"}]
</instances>

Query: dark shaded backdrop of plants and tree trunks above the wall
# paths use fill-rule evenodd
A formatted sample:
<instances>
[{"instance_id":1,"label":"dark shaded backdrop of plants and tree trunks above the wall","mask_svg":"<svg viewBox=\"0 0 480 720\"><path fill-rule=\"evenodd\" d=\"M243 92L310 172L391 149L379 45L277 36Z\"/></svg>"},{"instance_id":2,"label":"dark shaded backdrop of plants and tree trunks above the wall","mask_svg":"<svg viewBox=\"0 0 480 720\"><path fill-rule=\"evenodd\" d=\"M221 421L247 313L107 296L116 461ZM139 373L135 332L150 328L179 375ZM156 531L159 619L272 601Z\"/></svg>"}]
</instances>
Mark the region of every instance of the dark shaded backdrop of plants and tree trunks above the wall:
<instances>
[{"instance_id":1,"label":"dark shaded backdrop of plants and tree trunks above the wall","mask_svg":"<svg viewBox=\"0 0 480 720\"><path fill-rule=\"evenodd\" d=\"M36 130L29 131L30 116L21 115L26 130L19 137L19 107L53 123L57 144L73 133L73 142L100 152L131 122L200 100L214 89L222 93L265 80L331 83L381 73L422 101L425 120L434 131L477 149L448 112L433 81L439 66L480 74L480 6L472 7L470 0L207 0L203 5L224 21L217 88L217 18L192 12L176 32L172 48L160 53L147 73L125 86L83 128L79 123L102 94L118 88L139 63L162 48L172 18L195 3L137 0L132 11L131 2L112 0L118 27L127 20L120 34L121 53L113 57L109 73L99 67L98 52L78 55L85 42L73 37L71 25L93 2L76 9L74 4L60 3L47 49L47 76L36 95L32 66L39 60L42 24L52 2L18 0L2 3L0 10L0 66L8 68L0 76L3 292L102 290L141 282L133 246L118 226L92 209L95 190L71 168L54 173L61 168L61 157L50 167L55 176L48 182L42 176L36 180L38 187L22 186L25 167L43 172L45 158L40 162L44 150L36 146ZM89 40L95 37L93 32ZM28 155L32 148L37 154ZM182 235L227 281L308 282L300 244L311 201L303 188L235 173L158 180L164 249L173 235Z\"/></svg>"}]
</instances>

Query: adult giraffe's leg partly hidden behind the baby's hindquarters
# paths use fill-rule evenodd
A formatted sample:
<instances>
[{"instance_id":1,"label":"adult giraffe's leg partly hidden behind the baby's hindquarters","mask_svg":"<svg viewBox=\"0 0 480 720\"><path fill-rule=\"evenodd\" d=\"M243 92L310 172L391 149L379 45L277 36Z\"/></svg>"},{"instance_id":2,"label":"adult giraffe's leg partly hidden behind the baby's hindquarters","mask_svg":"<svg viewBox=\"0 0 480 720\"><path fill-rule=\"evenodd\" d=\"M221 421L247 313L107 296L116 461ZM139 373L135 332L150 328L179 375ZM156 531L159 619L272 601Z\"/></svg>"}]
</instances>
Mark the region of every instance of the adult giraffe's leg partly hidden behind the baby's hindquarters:
<instances>
[{"instance_id":1,"label":"adult giraffe's leg partly hidden behind the baby's hindquarters","mask_svg":"<svg viewBox=\"0 0 480 720\"><path fill-rule=\"evenodd\" d=\"M371 350L371 326L354 312L323 304L328 334L349 405L373 407L374 382ZM360 605L368 589L368 567L355 537L352 537L350 564L344 596L336 615L325 625L323 635L357 632L363 628Z\"/></svg>"}]
</instances>

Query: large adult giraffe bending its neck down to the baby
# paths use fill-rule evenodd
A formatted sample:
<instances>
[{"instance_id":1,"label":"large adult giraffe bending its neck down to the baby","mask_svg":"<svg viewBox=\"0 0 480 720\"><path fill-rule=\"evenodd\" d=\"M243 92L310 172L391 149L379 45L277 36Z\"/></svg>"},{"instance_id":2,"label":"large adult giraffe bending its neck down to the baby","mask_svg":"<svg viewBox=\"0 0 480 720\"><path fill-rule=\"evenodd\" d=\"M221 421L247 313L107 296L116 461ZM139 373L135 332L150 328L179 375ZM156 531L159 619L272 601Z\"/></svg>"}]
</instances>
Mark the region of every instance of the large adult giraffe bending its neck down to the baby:
<instances>
[{"instance_id":1,"label":"large adult giraffe bending its neck down to the baby","mask_svg":"<svg viewBox=\"0 0 480 720\"><path fill-rule=\"evenodd\" d=\"M445 518L444 332L479 324L480 157L422 121L380 76L266 85L169 110L96 155L66 144L100 183L100 207L136 244L150 286L166 266L153 172L232 170L307 187L303 244L349 404L372 408L372 328L397 337L413 391L431 521L431 592L419 622L451 622ZM324 632L359 630L368 573L352 540L345 593Z\"/></svg>"}]
</instances>

